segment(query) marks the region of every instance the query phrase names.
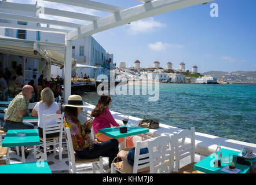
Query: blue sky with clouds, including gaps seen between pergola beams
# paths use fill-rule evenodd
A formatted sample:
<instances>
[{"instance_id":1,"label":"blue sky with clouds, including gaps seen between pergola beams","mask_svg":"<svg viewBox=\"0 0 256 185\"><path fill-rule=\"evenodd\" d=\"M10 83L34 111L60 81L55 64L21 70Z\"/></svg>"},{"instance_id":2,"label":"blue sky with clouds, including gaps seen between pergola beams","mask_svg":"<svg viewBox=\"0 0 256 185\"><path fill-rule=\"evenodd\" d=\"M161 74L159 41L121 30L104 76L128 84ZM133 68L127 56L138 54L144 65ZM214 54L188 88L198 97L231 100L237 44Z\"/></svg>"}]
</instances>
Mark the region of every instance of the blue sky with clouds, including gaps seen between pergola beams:
<instances>
[{"instance_id":1,"label":"blue sky with clouds, including gaps seen between pergola beams","mask_svg":"<svg viewBox=\"0 0 256 185\"><path fill-rule=\"evenodd\" d=\"M34 3L35 0L12 2ZM50 8L69 9L96 16L108 14L74 6L60 6L57 3L38 2ZM141 3L135 0L98 2L122 8ZM92 36L106 51L114 53L114 62L118 66L119 62L134 66L136 60L141 61L142 67L153 66L153 62L158 60L163 68L166 68L169 61L173 63L174 69L184 61L186 69L191 70L193 65L197 65L199 72L255 71L256 1L213 2L218 4L218 17L210 16L210 2L145 18Z\"/></svg>"}]
</instances>

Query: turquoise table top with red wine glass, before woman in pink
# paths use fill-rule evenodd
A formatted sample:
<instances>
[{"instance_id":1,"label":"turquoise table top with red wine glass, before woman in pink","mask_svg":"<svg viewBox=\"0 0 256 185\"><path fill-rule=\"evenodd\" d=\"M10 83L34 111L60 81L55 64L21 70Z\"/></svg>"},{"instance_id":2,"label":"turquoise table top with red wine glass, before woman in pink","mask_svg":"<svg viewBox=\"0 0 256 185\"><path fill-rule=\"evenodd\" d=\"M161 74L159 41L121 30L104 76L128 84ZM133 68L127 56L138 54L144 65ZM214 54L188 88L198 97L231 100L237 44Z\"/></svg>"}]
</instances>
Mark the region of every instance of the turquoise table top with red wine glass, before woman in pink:
<instances>
[{"instance_id":1,"label":"turquoise table top with red wine glass, before woman in pink","mask_svg":"<svg viewBox=\"0 0 256 185\"><path fill-rule=\"evenodd\" d=\"M129 130L126 133L120 133L119 127L115 127L115 128L113 127L113 128L100 129L99 132L111 138L119 139L119 138L125 138L126 136L147 133L149 132L149 129L142 128L142 127L135 127L135 128L129 128Z\"/></svg>"}]
</instances>

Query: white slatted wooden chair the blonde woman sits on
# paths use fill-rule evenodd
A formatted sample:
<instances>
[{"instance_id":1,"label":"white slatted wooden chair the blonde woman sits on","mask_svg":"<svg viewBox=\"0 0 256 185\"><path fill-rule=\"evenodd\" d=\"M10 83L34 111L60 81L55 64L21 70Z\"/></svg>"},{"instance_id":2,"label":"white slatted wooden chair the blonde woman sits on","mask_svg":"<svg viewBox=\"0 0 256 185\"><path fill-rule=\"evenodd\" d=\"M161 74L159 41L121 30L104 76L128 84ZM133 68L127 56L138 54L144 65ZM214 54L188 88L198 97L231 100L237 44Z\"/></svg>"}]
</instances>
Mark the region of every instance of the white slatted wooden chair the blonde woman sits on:
<instances>
[{"instance_id":1,"label":"white slatted wooden chair the blonde woman sits on","mask_svg":"<svg viewBox=\"0 0 256 185\"><path fill-rule=\"evenodd\" d=\"M58 158L62 161L62 138L63 138L63 114L49 114L42 116L43 123L43 138L40 138L40 146L43 147L43 152L40 150L39 146L34 146L34 157L36 158L36 153L43 153L45 160L47 161L47 151L54 151L56 154L56 145L58 145ZM56 120L57 124L46 125L46 120ZM60 133L58 136L53 138L46 138L46 134ZM61 139L60 139L61 138ZM47 146L53 145L53 149L47 149Z\"/></svg>"}]
</instances>

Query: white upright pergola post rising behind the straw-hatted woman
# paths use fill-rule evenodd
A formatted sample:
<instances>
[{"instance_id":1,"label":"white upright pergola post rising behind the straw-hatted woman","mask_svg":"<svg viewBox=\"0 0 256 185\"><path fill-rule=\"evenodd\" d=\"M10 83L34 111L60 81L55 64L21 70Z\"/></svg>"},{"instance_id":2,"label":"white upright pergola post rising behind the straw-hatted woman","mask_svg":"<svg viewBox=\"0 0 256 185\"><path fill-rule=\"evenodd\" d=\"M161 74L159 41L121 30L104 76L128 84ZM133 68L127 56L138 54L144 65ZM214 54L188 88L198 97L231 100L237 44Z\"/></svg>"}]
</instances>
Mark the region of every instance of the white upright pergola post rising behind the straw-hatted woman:
<instances>
[{"instance_id":1,"label":"white upright pergola post rising behind the straw-hatted woman","mask_svg":"<svg viewBox=\"0 0 256 185\"><path fill-rule=\"evenodd\" d=\"M72 45L71 40L65 40L65 58L64 58L64 103L68 103L68 97L71 95L71 70L72 70Z\"/></svg>"}]
</instances>

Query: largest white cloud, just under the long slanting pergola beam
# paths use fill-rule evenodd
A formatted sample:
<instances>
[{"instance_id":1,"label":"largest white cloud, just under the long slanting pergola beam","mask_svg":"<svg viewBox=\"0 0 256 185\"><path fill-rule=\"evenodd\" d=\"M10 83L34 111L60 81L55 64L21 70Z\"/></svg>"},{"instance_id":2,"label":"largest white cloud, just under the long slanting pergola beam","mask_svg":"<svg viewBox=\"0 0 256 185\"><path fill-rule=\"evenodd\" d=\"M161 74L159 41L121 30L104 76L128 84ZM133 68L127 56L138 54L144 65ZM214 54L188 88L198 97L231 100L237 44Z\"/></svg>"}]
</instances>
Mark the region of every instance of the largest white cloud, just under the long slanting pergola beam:
<instances>
[{"instance_id":1,"label":"largest white cloud, just under the long slanting pergola beam","mask_svg":"<svg viewBox=\"0 0 256 185\"><path fill-rule=\"evenodd\" d=\"M155 31L156 28L163 27L166 27L166 24L155 21L153 17L150 17L145 20L138 20L131 23L128 32L131 35L136 35L145 32L152 32Z\"/></svg>"}]
</instances>

